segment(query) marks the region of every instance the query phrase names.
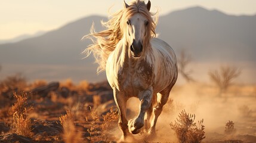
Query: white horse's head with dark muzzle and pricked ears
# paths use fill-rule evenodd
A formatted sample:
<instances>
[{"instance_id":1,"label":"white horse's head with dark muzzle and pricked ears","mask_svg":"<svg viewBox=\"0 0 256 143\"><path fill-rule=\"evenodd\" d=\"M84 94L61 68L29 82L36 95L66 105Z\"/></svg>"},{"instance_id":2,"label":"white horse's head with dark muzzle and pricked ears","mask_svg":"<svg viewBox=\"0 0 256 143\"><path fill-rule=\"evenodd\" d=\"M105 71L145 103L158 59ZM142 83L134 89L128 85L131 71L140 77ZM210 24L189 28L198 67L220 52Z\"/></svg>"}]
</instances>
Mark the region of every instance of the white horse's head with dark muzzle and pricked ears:
<instances>
[{"instance_id":1,"label":"white horse's head with dark muzzle and pricked ears","mask_svg":"<svg viewBox=\"0 0 256 143\"><path fill-rule=\"evenodd\" d=\"M121 23L125 25L124 37L133 57L140 57L151 39L150 31L155 23L149 12L150 5L150 1L147 4L137 2L135 5L128 5L124 1L125 13Z\"/></svg>"}]
</instances>

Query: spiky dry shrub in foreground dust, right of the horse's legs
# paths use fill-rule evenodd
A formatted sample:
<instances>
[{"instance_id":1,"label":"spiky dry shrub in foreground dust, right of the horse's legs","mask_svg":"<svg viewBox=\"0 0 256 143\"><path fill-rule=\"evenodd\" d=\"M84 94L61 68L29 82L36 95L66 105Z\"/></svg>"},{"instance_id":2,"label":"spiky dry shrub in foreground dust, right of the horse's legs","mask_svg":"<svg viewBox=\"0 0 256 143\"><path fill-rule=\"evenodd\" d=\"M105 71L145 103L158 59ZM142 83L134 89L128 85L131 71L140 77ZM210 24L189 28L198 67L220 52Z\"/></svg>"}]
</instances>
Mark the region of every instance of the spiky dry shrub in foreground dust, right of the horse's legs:
<instances>
[{"instance_id":1,"label":"spiky dry shrub in foreground dust, right of the horse's legs","mask_svg":"<svg viewBox=\"0 0 256 143\"><path fill-rule=\"evenodd\" d=\"M203 119L198 121L198 126L196 126L196 123L194 123L195 117L195 114L188 114L183 110L179 113L177 121L170 123L171 129L175 131L179 142L196 143L205 138Z\"/></svg>"}]
</instances>

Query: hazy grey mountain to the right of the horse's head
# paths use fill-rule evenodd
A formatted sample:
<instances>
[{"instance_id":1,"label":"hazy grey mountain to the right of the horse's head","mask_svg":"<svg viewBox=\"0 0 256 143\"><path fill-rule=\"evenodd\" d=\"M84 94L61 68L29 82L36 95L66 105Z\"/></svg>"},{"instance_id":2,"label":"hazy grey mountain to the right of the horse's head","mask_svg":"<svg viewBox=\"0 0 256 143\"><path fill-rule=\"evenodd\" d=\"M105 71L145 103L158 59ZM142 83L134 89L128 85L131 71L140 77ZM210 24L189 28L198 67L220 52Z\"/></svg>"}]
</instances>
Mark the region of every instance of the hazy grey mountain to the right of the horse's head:
<instances>
[{"instance_id":1,"label":"hazy grey mountain to the right of the horse's head","mask_svg":"<svg viewBox=\"0 0 256 143\"><path fill-rule=\"evenodd\" d=\"M256 61L256 15L194 7L160 17L158 31L159 38L188 49L196 61Z\"/></svg>"}]
</instances>

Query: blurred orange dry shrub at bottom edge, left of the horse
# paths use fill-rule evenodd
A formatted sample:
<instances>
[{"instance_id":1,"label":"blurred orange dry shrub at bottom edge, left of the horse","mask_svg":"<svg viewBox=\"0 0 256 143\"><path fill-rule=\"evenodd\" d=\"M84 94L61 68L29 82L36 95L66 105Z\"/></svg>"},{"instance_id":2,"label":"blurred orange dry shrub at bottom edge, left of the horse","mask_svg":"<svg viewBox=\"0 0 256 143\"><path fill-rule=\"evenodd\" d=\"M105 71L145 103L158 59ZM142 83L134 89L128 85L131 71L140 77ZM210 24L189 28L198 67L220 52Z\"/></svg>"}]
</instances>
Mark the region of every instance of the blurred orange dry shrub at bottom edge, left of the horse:
<instances>
[{"instance_id":1,"label":"blurred orange dry shrub at bottom edge, left of the horse","mask_svg":"<svg viewBox=\"0 0 256 143\"><path fill-rule=\"evenodd\" d=\"M73 123L74 116L70 110L66 110L64 116L59 117L60 124L63 126L63 139L66 143L82 142L82 133L78 132Z\"/></svg>"}]
</instances>

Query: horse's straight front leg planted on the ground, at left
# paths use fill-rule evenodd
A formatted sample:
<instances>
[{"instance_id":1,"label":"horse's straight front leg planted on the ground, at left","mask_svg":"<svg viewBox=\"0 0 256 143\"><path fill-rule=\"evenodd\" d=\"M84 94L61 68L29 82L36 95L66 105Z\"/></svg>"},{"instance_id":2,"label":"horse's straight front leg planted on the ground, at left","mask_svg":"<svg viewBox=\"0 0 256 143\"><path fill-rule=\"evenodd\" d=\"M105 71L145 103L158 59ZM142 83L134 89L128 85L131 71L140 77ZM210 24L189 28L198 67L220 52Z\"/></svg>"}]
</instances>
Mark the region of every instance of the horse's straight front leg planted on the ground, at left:
<instances>
[{"instance_id":1,"label":"horse's straight front leg planted on the ground, at left","mask_svg":"<svg viewBox=\"0 0 256 143\"><path fill-rule=\"evenodd\" d=\"M118 89L113 88L114 100L116 102L116 107L118 109L118 126L122 130L122 137L119 142L127 140L128 132L128 121L126 117L127 112L127 97L125 97L124 92L118 91Z\"/></svg>"}]
</instances>

